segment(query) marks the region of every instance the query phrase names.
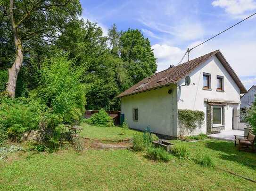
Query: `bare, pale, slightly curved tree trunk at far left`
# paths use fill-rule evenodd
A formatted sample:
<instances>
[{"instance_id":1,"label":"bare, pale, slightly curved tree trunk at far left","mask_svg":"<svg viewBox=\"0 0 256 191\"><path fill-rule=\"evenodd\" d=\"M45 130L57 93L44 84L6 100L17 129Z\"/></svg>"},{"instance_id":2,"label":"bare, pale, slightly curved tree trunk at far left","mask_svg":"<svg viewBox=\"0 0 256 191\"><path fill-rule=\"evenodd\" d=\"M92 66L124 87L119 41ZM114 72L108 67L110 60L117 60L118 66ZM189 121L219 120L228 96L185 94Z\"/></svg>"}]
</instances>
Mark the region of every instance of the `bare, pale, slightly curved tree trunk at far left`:
<instances>
[{"instance_id":1,"label":"bare, pale, slightly curved tree trunk at far left","mask_svg":"<svg viewBox=\"0 0 256 191\"><path fill-rule=\"evenodd\" d=\"M13 15L13 7L14 7L14 0L10 0L10 20L12 25L12 32L14 36L15 41L15 47L16 47L16 58L15 61L10 69L8 69L8 84L7 84L7 92L11 98L15 98L15 90L16 90L16 84L17 84L17 78L19 71L22 66L23 62L23 48L21 40L18 36L18 29L14 21L14 15Z\"/></svg>"}]
</instances>

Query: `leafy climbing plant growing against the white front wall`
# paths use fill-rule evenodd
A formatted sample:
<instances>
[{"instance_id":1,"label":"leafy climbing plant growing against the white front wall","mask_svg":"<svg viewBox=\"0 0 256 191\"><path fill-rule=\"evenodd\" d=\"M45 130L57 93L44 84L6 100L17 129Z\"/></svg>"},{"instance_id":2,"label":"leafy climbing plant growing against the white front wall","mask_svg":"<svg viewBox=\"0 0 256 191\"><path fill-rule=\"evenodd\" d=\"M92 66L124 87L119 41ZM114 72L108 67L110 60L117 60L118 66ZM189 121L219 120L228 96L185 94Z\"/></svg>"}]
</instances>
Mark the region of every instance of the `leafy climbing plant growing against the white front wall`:
<instances>
[{"instance_id":1,"label":"leafy climbing plant growing against the white front wall","mask_svg":"<svg viewBox=\"0 0 256 191\"><path fill-rule=\"evenodd\" d=\"M205 114L202 111L179 109L178 119L181 128L185 128L190 132L193 131L197 126L201 127L204 122Z\"/></svg>"}]
</instances>

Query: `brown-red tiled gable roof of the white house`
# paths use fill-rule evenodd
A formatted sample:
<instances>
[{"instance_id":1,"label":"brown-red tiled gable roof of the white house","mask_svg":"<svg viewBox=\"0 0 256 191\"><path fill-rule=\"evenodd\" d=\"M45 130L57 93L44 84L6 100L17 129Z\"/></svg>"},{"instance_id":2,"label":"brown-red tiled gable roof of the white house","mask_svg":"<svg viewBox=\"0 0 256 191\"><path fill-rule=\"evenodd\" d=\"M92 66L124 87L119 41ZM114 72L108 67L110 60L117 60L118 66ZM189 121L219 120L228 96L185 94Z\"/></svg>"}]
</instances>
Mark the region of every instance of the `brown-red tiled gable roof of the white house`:
<instances>
[{"instance_id":1,"label":"brown-red tiled gable roof of the white house","mask_svg":"<svg viewBox=\"0 0 256 191\"><path fill-rule=\"evenodd\" d=\"M231 77L239 86L240 93L247 92L246 88L241 83L239 77L236 75L236 73L231 68L229 63L226 61L223 54L219 50L216 50L214 52L207 53L203 56L193 59L189 61L189 63L185 62L173 68L168 68L161 72L158 72L153 76L146 77L143 80L141 80L139 83L133 85L128 90L120 93L118 96L116 96L116 98L124 97L126 95L130 95L138 92L144 92L146 90L169 85L172 83L177 83L178 81L180 81L185 76L189 75L194 69L198 68L202 63L204 63L214 55L217 56L217 58L221 61L225 69L227 69Z\"/></svg>"}]
</instances>

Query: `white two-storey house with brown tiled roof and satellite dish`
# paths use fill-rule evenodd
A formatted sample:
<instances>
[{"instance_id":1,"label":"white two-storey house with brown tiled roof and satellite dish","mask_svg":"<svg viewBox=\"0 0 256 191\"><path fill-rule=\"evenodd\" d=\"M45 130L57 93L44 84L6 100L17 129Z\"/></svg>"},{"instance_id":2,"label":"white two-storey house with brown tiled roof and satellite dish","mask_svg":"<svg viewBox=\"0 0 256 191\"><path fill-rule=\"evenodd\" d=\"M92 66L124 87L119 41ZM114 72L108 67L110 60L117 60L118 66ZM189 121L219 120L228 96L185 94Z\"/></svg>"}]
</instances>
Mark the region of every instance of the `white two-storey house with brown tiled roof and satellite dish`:
<instances>
[{"instance_id":1,"label":"white two-storey house with brown tiled roof and satellite dish","mask_svg":"<svg viewBox=\"0 0 256 191\"><path fill-rule=\"evenodd\" d=\"M185 85L185 77L190 85ZM187 77L187 78L189 78ZM247 90L216 50L147 77L122 92L121 115L130 128L150 130L164 138L181 136L180 109L204 112L204 122L192 135L238 129L240 94Z\"/></svg>"}]
</instances>

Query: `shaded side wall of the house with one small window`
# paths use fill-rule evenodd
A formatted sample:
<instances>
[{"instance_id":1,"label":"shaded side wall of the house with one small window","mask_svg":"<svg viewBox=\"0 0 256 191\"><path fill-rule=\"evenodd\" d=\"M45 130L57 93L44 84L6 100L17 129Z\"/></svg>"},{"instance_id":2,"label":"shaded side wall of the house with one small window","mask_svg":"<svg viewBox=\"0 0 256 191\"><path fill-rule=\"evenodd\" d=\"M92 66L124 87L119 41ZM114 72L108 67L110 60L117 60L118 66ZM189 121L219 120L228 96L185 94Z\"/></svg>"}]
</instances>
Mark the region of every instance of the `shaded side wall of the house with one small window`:
<instances>
[{"instance_id":1,"label":"shaded side wall of the house with one small window","mask_svg":"<svg viewBox=\"0 0 256 191\"><path fill-rule=\"evenodd\" d=\"M172 89L172 94L168 90ZM150 125L152 132L177 136L177 86L158 88L121 98L121 114L130 128L145 130ZM133 121L132 109L138 108L138 121ZM174 123L174 128L173 128Z\"/></svg>"}]
</instances>

